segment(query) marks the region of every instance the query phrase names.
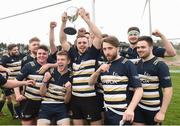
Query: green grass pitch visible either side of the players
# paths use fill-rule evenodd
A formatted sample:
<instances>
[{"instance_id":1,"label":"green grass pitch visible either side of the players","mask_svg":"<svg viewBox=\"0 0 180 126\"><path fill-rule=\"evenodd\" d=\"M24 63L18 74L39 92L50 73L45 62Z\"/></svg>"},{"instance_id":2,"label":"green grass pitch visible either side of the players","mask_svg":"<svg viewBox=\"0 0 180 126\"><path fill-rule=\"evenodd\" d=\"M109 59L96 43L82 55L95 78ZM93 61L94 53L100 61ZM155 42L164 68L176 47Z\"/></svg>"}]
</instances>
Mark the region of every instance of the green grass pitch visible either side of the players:
<instances>
[{"instance_id":1,"label":"green grass pitch visible either side of the players","mask_svg":"<svg viewBox=\"0 0 180 126\"><path fill-rule=\"evenodd\" d=\"M180 67L170 67L173 70L180 70ZM180 73L171 73L173 83L173 98L166 113L166 119L163 125L180 125ZM0 125L20 125L19 120L13 120L6 106L3 108L6 116L0 117Z\"/></svg>"}]
</instances>

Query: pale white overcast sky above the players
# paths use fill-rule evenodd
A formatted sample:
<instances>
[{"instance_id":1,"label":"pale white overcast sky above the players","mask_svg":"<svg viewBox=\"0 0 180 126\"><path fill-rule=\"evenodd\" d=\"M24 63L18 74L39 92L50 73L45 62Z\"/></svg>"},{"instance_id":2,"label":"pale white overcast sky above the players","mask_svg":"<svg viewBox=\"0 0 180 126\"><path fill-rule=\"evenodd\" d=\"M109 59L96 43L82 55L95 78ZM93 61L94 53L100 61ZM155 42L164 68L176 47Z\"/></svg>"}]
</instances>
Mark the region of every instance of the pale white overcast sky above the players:
<instances>
[{"instance_id":1,"label":"pale white overcast sky above the players","mask_svg":"<svg viewBox=\"0 0 180 126\"><path fill-rule=\"evenodd\" d=\"M1 0L0 18L29 11L64 0ZM53 7L28 14L0 20L0 42L28 44L30 38L37 36L42 44L48 45L50 21L56 21L55 43L59 45L61 14L70 6L84 7L92 16L93 0L72 0ZM180 0L150 0L152 30L159 29L167 38L180 38ZM148 6L144 15L146 0L95 0L95 23L102 33L115 35L127 42L127 29L138 26L141 35L149 35ZM143 16L142 16L143 15ZM87 28L78 17L74 22L76 29ZM73 41L75 36L68 36ZM154 39L157 39L153 37ZM175 41L176 42L176 41Z\"/></svg>"}]
</instances>

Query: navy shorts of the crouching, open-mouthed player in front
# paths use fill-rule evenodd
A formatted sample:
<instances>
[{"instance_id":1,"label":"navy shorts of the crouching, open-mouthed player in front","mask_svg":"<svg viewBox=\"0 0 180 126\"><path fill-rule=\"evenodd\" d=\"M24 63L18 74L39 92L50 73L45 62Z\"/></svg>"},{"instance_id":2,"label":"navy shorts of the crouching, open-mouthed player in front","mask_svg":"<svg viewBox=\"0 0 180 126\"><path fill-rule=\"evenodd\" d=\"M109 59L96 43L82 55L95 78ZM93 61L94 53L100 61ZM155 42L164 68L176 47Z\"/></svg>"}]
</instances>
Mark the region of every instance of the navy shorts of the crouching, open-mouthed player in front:
<instances>
[{"instance_id":1,"label":"navy shorts of the crouching, open-mouthed player in front","mask_svg":"<svg viewBox=\"0 0 180 126\"><path fill-rule=\"evenodd\" d=\"M38 119L55 119L56 121L69 118L66 105L63 103L42 103Z\"/></svg>"}]
</instances>

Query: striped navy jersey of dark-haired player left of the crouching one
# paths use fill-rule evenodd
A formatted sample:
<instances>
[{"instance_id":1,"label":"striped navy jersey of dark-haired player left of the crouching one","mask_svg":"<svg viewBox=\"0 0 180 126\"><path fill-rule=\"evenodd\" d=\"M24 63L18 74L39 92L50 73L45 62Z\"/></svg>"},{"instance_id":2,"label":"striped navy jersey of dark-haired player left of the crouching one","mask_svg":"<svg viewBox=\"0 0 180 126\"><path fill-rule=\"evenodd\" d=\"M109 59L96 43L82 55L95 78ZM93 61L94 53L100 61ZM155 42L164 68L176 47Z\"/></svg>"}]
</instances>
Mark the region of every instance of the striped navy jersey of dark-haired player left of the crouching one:
<instances>
[{"instance_id":1,"label":"striped navy jersey of dark-haired player left of the crouching one","mask_svg":"<svg viewBox=\"0 0 180 126\"><path fill-rule=\"evenodd\" d=\"M41 68L41 65L37 61L32 61L24 65L21 69L20 74L17 75L16 79L22 81L35 80L36 85L28 85L25 88L25 96L32 100L41 100L40 95L40 86L42 85L43 74L39 74L38 70Z\"/></svg>"}]
</instances>

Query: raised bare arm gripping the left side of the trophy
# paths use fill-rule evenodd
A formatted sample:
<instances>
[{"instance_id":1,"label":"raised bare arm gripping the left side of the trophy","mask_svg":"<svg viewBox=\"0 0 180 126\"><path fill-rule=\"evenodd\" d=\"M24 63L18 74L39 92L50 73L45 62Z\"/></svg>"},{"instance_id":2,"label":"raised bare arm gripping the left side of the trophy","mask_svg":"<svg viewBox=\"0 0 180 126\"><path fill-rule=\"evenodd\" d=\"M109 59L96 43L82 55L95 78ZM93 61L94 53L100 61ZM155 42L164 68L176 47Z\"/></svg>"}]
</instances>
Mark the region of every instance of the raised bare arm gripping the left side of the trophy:
<instances>
[{"instance_id":1,"label":"raised bare arm gripping the left side of the trophy","mask_svg":"<svg viewBox=\"0 0 180 126\"><path fill-rule=\"evenodd\" d=\"M67 22L67 13L64 12L61 16L61 28L60 28L60 33L59 33L59 40L61 43L61 46L63 50L69 51L70 49L70 44L67 41L67 35L64 33L64 28L66 27L66 22Z\"/></svg>"}]
</instances>

